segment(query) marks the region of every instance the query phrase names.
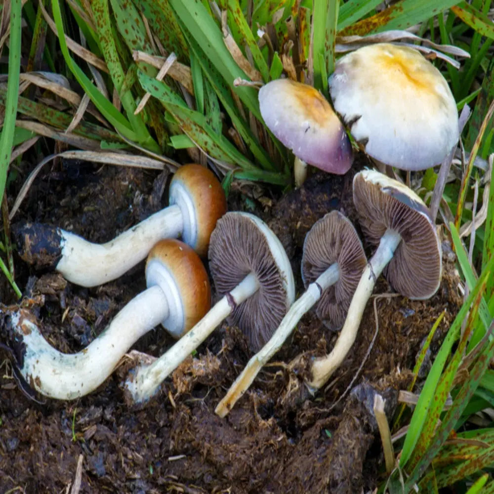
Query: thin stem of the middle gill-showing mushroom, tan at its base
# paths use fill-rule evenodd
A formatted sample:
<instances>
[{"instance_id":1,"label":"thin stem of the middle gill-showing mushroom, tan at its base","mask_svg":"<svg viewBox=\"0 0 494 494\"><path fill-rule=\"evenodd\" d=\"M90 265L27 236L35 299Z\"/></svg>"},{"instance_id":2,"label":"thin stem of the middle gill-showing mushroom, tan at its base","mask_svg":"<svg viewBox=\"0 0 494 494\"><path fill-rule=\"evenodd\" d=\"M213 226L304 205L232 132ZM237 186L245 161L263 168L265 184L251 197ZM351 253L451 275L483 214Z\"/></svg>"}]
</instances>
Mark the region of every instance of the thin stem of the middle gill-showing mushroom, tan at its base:
<instances>
[{"instance_id":1,"label":"thin stem of the middle gill-showing mushroom, tan at its base","mask_svg":"<svg viewBox=\"0 0 494 494\"><path fill-rule=\"evenodd\" d=\"M227 394L218 403L214 412L224 417L234 407L237 401L247 391L261 368L269 362L271 357L282 347L285 340L295 328L301 317L319 300L323 291L334 285L340 276L337 263L331 264L315 282L296 300L283 318L278 329L270 340L247 363L246 368L235 379Z\"/></svg>"}]
</instances>

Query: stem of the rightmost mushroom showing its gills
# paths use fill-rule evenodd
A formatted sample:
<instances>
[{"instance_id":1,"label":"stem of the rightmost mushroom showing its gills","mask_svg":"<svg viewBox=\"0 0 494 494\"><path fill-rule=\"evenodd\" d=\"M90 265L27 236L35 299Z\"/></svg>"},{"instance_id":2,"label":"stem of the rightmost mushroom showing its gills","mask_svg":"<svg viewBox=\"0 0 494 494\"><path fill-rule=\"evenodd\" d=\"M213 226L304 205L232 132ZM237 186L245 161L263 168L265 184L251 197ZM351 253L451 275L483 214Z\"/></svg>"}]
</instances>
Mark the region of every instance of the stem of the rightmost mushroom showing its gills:
<instances>
[{"instance_id":1,"label":"stem of the rightmost mushroom showing its gills","mask_svg":"<svg viewBox=\"0 0 494 494\"><path fill-rule=\"evenodd\" d=\"M312 380L308 383L312 388L319 389L323 386L345 359L357 336L360 321L367 301L371 297L375 282L393 258L400 242L401 235L395 230L387 229L381 237L379 246L367 263L357 289L353 294L345 324L334 344L334 348L328 355L315 359L312 364Z\"/></svg>"}]
</instances>

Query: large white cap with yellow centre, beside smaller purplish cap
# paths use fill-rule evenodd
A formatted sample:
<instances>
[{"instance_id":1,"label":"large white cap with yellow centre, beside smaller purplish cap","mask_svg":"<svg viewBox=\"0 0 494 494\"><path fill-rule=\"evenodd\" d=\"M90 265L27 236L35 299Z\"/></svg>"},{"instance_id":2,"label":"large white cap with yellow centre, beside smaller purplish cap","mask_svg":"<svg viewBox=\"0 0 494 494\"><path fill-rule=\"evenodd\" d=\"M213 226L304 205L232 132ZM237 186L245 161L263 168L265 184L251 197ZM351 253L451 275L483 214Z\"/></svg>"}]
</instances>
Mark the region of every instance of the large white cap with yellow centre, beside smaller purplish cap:
<instances>
[{"instance_id":1,"label":"large white cap with yellow centre, beside smaller purplish cap","mask_svg":"<svg viewBox=\"0 0 494 494\"><path fill-rule=\"evenodd\" d=\"M329 93L355 140L386 165L422 170L441 163L458 141L450 87L413 48L377 43L344 55Z\"/></svg>"}]
</instances>

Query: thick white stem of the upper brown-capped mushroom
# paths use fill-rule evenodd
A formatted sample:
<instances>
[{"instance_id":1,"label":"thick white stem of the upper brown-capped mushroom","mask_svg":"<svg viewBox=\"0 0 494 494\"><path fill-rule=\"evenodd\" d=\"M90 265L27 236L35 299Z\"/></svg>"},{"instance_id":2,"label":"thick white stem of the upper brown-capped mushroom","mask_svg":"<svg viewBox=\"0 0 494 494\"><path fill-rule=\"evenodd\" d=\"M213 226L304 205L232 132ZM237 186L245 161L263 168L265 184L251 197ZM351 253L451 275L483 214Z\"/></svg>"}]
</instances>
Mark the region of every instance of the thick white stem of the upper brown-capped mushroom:
<instances>
[{"instance_id":1,"label":"thick white stem of the upper brown-capped mushroom","mask_svg":"<svg viewBox=\"0 0 494 494\"><path fill-rule=\"evenodd\" d=\"M168 206L152 214L106 244L93 244L65 230L62 257L56 270L82 287L95 287L115 280L142 261L159 240L177 238L182 232L180 207Z\"/></svg>"}]
</instances>

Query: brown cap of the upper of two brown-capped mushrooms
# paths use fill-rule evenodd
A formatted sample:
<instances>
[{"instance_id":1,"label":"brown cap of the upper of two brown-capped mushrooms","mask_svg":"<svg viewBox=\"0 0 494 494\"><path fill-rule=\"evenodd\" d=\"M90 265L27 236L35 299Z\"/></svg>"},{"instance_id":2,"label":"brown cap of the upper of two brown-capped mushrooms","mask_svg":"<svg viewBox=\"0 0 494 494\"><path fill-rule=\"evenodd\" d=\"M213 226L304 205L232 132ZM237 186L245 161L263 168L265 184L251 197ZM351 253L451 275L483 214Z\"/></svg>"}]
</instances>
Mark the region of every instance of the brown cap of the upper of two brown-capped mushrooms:
<instances>
[{"instance_id":1,"label":"brown cap of the upper of two brown-capped mushrooms","mask_svg":"<svg viewBox=\"0 0 494 494\"><path fill-rule=\"evenodd\" d=\"M213 172L194 163L180 166L170 182L169 203L182 211L184 242L206 256L211 232L226 212L225 192Z\"/></svg>"}]
</instances>

